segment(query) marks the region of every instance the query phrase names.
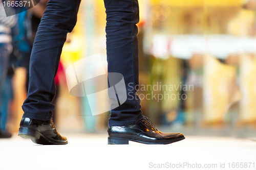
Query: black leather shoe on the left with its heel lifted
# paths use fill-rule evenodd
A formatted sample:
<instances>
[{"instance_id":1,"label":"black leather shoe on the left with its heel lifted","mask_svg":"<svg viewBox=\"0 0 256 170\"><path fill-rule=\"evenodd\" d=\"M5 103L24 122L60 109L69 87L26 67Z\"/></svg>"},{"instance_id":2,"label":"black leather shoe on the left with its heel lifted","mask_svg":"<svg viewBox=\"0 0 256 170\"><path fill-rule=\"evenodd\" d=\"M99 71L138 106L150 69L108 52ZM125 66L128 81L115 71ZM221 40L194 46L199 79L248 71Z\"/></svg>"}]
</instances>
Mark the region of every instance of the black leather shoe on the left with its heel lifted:
<instances>
[{"instance_id":1,"label":"black leather shoe on the left with its heel lifted","mask_svg":"<svg viewBox=\"0 0 256 170\"><path fill-rule=\"evenodd\" d=\"M19 125L18 135L30 138L37 144L68 144L65 136L61 136L55 128L52 119L42 121L23 117Z\"/></svg>"}]
</instances>

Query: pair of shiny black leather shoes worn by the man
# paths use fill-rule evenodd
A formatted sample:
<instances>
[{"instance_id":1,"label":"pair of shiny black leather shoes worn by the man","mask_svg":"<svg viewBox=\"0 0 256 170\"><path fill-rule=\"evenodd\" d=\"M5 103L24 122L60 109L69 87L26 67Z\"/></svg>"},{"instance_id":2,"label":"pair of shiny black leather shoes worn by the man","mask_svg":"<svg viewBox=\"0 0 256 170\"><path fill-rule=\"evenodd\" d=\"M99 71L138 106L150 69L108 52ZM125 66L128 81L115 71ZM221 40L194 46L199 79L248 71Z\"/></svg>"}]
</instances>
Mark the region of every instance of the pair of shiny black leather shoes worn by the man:
<instances>
[{"instance_id":1,"label":"pair of shiny black leather shoes worn by the man","mask_svg":"<svg viewBox=\"0 0 256 170\"><path fill-rule=\"evenodd\" d=\"M108 144L129 144L135 141L144 144L169 144L185 139L181 133L162 133L144 116L137 124L128 126L111 126L108 129ZM41 121L24 117L20 122L18 135L31 138L38 144L67 144L65 136L61 136L52 120Z\"/></svg>"}]
</instances>

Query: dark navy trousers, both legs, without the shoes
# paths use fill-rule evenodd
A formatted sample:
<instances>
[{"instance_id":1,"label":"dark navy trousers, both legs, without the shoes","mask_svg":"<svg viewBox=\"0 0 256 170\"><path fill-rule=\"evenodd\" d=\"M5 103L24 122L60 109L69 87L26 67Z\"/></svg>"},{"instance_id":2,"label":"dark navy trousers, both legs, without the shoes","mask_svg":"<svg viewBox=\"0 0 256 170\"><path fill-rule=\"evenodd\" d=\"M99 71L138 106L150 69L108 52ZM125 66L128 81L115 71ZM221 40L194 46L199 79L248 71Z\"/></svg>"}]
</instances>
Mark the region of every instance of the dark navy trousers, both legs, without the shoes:
<instances>
[{"instance_id":1,"label":"dark navy trousers, both legs, without the shoes","mask_svg":"<svg viewBox=\"0 0 256 170\"><path fill-rule=\"evenodd\" d=\"M123 75L128 98L111 110L109 126L132 125L143 118L138 84L137 0L104 0L106 9L106 53L108 72ZM80 0L50 0L36 33L29 70L29 91L23 117L52 118L55 82L62 46L76 24ZM129 84L130 83L130 84ZM128 85L129 84L129 85ZM131 98L131 95L134 98ZM98 106L100 107L100 106Z\"/></svg>"}]
</instances>

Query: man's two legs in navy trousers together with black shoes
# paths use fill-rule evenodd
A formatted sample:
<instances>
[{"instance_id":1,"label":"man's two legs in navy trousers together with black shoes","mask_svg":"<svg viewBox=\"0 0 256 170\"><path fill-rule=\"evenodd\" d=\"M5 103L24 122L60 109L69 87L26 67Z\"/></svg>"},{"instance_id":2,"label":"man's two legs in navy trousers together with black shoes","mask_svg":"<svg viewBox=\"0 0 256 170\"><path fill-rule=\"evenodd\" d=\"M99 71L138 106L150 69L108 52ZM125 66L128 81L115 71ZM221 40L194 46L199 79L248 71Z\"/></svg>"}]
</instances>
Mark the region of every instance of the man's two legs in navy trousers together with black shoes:
<instances>
[{"instance_id":1,"label":"man's two legs in navy trousers together with black shoes","mask_svg":"<svg viewBox=\"0 0 256 170\"><path fill-rule=\"evenodd\" d=\"M111 110L108 144L168 144L185 139L181 133L162 133L142 114L138 85L137 0L105 0L108 72L122 74L126 92L133 96ZM52 121L56 92L54 77L67 33L76 25L80 0L50 0L38 27L30 58L30 79L18 135L38 144L67 144ZM121 63L120 63L121 61ZM130 83L130 86L128 84ZM132 84L132 85L131 85ZM111 98L111 96L110 96ZM118 106L113 100L112 105ZM99 106L100 107L100 106ZM112 107L111 107L112 108Z\"/></svg>"}]
</instances>

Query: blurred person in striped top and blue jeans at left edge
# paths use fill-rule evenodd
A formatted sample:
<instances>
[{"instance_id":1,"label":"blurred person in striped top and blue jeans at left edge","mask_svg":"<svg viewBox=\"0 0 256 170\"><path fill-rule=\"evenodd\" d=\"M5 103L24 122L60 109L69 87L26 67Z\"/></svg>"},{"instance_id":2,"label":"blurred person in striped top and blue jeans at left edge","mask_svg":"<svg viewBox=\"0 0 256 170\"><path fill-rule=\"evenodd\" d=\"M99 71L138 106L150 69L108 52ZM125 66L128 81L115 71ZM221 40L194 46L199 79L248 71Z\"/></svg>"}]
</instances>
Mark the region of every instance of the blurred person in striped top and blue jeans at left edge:
<instances>
[{"instance_id":1,"label":"blurred person in striped top and blue jeans at left edge","mask_svg":"<svg viewBox=\"0 0 256 170\"><path fill-rule=\"evenodd\" d=\"M5 11L6 10L6 11ZM11 16L6 17L6 13ZM8 103L12 97L11 78L8 75L9 58L12 52L11 28L16 23L15 10L4 8L0 2L0 138L9 138L6 131Z\"/></svg>"}]
</instances>

